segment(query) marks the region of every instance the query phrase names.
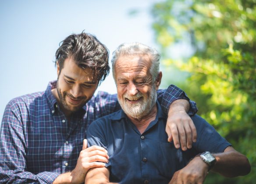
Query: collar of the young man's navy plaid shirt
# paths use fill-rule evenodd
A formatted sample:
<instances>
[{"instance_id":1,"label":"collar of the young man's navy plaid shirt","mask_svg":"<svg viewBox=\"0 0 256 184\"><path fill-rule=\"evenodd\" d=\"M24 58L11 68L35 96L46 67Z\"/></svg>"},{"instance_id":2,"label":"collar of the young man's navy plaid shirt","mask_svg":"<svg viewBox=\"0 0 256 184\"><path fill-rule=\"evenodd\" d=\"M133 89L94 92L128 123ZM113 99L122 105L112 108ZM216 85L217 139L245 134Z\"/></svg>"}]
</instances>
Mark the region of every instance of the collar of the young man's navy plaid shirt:
<instances>
[{"instance_id":1,"label":"collar of the young man's navy plaid shirt","mask_svg":"<svg viewBox=\"0 0 256 184\"><path fill-rule=\"evenodd\" d=\"M48 101L48 104L50 106L50 111L52 114L54 114L56 111L60 110L59 105L57 103L56 98L53 96L52 89L57 88L57 81L50 81L47 88L46 88L46 99ZM82 107L81 111L78 111L76 113L84 115L86 112L86 104Z\"/></svg>"}]
</instances>

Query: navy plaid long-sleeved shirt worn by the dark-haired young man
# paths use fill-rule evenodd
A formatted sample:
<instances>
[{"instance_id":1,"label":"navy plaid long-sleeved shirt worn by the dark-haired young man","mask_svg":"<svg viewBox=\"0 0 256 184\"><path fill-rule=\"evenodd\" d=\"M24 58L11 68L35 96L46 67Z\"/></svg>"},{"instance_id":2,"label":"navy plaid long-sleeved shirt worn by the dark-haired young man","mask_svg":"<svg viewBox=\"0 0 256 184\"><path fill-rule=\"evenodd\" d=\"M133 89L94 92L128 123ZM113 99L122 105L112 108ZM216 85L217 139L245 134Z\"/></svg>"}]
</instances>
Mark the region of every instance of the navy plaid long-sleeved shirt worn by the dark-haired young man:
<instances>
[{"instance_id":1,"label":"navy plaid long-sleeved shirt worn by the dark-haired young man","mask_svg":"<svg viewBox=\"0 0 256 184\"><path fill-rule=\"evenodd\" d=\"M0 183L52 183L60 173L75 168L82 140L93 120L120 110L116 95L99 92L68 121L59 109L50 82L45 92L12 99L1 124ZM158 100L167 112L176 99L188 99L171 85L158 90ZM190 101L190 114L197 112Z\"/></svg>"}]
</instances>

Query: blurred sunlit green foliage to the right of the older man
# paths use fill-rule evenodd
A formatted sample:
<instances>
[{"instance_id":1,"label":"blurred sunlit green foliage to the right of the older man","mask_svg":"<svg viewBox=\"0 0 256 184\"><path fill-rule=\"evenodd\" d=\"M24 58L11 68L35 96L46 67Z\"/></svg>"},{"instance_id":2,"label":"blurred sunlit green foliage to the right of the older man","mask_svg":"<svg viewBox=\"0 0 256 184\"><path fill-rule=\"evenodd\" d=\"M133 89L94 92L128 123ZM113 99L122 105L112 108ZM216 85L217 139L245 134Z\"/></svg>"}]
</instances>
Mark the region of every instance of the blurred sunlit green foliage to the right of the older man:
<instances>
[{"instance_id":1,"label":"blurred sunlit green foliage to the right of the older man","mask_svg":"<svg viewBox=\"0 0 256 184\"><path fill-rule=\"evenodd\" d=\"M252 164L245 177L211 173L205 183L255 182L256 0L166 0L152 14L164 64L190 72L181 86L199 115ZM173 59L177 43L191 46L192 55Z\"/></svg>"}]
</instances>

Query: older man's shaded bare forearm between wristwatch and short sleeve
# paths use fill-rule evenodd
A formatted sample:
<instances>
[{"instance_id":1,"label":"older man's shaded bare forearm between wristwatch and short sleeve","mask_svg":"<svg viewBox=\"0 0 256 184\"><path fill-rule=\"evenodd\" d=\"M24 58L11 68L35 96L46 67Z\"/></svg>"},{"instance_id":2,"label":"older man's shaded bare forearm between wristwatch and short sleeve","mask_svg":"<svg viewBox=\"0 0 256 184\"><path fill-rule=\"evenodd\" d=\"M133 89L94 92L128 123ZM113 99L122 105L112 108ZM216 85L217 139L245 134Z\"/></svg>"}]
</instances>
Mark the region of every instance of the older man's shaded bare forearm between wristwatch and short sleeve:
<instances>
[{"instance_id":1,"label":"older man's shaded bare forearm between wristwatch and short sleeve","mask_svg":"<svg viewBox=\"0 0 256 184\"><path fill-rule=\"evenodd\" d=\"M223 153L213 154L216 158L212 171L220 173L224 177L237 177L248 174L251 170L246 156L235 151L232 147L225 149Z\"/></svg>"}]
</instances>

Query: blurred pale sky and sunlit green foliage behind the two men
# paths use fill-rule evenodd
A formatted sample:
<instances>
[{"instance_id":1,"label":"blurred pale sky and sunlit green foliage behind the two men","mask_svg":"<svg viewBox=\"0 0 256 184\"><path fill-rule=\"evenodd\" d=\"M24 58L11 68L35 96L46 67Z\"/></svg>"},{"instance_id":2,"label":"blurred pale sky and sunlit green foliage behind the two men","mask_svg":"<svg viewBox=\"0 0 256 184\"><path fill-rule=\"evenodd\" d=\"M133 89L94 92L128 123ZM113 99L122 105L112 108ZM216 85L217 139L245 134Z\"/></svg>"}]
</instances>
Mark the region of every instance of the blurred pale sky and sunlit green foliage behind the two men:
<instances>
[{"instance_id":1,"label":"blurred pale sky and sunlit green foliage behind the two men","mask_svg":"<svg viewBox=\"0 0 256 184\"><path fill-rule=\"evenodd\" d=\"M0 118L8 101L57 78L54 54L72 33L92 33L112 53L142 42L162 55L162 88L175 84L252 171L206 184L256 183L256 0L1 0ZM111 58L111 54L110 54ZM98 90L115 93L112 74Z\"/></svg>"}]
</instances>

